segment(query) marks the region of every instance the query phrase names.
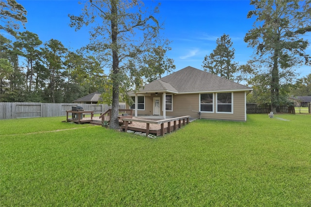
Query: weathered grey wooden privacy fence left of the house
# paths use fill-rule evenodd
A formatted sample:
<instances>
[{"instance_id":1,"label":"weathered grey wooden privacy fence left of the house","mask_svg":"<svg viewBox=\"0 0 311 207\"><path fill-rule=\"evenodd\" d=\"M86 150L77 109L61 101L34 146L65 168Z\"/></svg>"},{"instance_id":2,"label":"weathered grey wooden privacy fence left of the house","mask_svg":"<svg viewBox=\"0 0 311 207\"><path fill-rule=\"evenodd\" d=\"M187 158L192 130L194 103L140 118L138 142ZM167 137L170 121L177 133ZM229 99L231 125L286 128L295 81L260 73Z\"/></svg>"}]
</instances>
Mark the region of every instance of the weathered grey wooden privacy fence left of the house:
<instances>
[{"instance_id":1,"label":"weathered grey wooden privacy fence left of the house","mask_svg":"<svg viewBox=\"0 0 311 207\"><path fill-rule=\"evenodd\" d=\"M0 119L66 116L66 110L71 110L72 106L81 106L84 110L94 113L111 109L106 104L1 102ZM119 109L125 109L125 104L120 104Z\"/></svg>"}]
</instances>

